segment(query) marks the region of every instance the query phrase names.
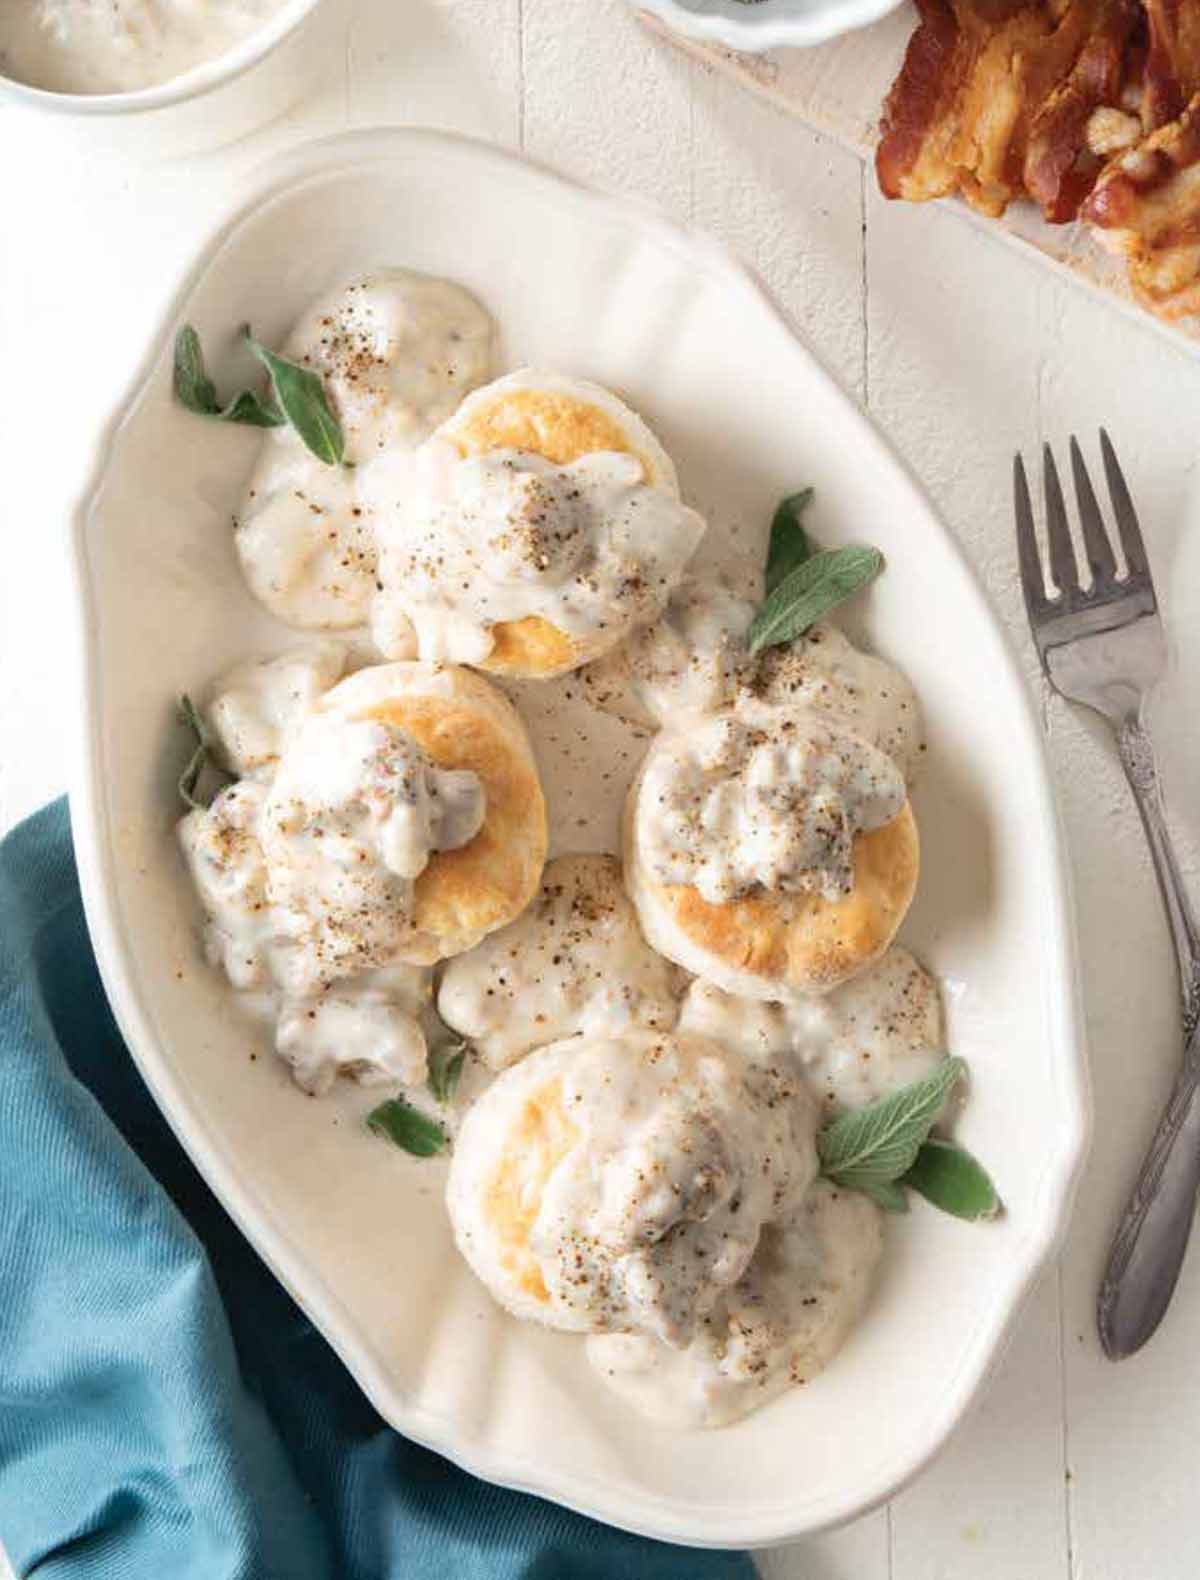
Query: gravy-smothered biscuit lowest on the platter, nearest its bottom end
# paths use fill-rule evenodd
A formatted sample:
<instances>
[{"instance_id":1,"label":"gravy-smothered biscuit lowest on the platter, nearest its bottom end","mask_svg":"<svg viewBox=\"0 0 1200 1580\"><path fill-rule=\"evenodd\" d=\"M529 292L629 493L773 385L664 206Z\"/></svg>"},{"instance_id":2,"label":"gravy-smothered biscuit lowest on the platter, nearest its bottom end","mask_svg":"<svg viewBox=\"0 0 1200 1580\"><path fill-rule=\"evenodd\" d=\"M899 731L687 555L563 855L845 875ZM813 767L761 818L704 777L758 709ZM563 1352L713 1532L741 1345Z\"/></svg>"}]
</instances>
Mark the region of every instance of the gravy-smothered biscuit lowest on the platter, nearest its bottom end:
<instances>
[{"instance_id":1,"label":"gravy-smothered biscuit lowest on the platter, nearest its bottom end","mask_svg":"<svg viewBox=\"0 0 1200 1580\"><path fill-rule=\"evenodd\" d=\"M446 1202L515 1316L691 1341L764 1224L811 1185L816 1106L789 1068L636 1030L539 1048L468 1111Z\"/></svg>"}]
</instances>

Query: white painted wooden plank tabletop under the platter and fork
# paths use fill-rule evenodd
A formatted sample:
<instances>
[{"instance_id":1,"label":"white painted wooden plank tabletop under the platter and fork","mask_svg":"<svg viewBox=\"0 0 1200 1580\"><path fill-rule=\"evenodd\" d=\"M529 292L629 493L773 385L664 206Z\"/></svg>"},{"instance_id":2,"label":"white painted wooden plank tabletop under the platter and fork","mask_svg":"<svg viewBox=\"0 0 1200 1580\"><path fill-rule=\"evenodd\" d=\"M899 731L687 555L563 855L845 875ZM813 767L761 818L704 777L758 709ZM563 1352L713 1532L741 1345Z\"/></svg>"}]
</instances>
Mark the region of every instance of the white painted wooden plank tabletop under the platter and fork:
<instances>
[{"instance_id":1,"label":"white painted wooden plank tabletop under the platter and fork","mask_svg":"<svg viewBox=\"0 0 1200 1580\"><path fill-rule=\"evenodd\" d=\"M1015 449L1107 423L1159 581L1170 578L1200 507L1200 362L953 213L884 204L852 155L653 43L623 0L327 0L321 36L321 85L300 109L187 161L119 161L0 111L0 828L66 779L62 520L96 423L236 174L348 123L489 136L640 193L740 253L925 480L1031 683L1009 514ZM1189 722L1183 694L1172 676L1159 720L1195 872L1200 784L1184 733L1195 708ZM1092 1321L1110 1226L1178 1057L1167 929L1108 741L1048 698L1043 719L1074 855L1096 1089L1074 1229L939 1463L889 1509L764 1553L770 1580L1194 1580L1198 1569L1200 1255L1142 1357L1108 1365Z\"/></svg>"}]
</instances>

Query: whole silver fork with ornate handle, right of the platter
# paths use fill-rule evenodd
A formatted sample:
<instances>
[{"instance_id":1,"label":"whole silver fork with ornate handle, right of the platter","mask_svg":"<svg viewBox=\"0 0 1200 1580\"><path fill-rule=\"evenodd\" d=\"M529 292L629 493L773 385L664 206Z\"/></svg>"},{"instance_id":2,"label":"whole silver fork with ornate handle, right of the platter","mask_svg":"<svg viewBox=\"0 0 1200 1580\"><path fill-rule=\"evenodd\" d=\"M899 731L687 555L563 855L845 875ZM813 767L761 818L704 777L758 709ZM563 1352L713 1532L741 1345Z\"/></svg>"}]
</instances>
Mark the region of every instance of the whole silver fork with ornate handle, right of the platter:
<instances>
[{"instance_id":1,"label":"whole silver fork with ornate handle, right of the platter","mask_svg":"<svg viewBox=\"0 0 1200 1580\"><path fill-rule=\"evenodd\" d=\"M1070 469L1091 572L1088 586L1080 581L1067 507L1048 444L1042 455L1042 487L1050 577L1058 589L1055 596L1047 592L1042 575L1029 485L1020 455L1013 460L1013 496L1025 607L1042 668L1059 695L1104 714L1113 727L1121 765L1149 841L1179 961L1183 1068L1113 1237L1097 1302L1100 1343L1110 1359L1119 1360L1140 1349L1159 1326L1192 1228L1200 1185L1200 934L1167 833L1154 749L1145 724L1145 700L1167 656L1162 619L1134 501L1104 430L1100 453L1126 561L1123 577L1118 575L1113 545L1074 438Z\"/></svg>"}]
</instances>

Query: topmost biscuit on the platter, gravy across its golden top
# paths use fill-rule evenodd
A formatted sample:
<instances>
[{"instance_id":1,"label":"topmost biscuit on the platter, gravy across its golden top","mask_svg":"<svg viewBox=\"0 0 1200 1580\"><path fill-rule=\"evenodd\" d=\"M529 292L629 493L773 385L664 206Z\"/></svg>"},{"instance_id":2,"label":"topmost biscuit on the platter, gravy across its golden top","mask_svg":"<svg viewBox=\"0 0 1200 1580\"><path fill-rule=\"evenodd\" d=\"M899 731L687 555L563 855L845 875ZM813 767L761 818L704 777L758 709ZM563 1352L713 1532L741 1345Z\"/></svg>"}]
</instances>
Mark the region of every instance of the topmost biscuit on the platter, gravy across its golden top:
<instances>
[{"instance_id":1,"label":"topmost biscuit on the platter, gravy across its golden top","mask_svg":"<svg viewBox=\"0 0 1200 1580\"><path fill-rule=\"evenodd\" d=\"M411 621L421 657L514 676L563 675L653 619L704 534L634 411L528 368L470 395L411 463L373 466L364 490L376 643Z\"/></svg>"}]
</instances>

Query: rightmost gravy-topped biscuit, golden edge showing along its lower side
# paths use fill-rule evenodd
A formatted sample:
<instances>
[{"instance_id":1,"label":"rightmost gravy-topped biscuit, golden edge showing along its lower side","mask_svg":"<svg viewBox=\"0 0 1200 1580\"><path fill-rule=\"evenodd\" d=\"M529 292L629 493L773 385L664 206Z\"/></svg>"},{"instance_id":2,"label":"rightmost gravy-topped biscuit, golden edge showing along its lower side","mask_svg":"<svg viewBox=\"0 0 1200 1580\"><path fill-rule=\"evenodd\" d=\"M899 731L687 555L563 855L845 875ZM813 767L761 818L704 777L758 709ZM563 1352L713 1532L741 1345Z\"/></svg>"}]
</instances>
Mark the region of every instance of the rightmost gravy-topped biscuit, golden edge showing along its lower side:
<instances>
[{"instance_id":1,"label":"rightmost gravy-topped biscuit, golden edge showing along its lower side","mask_svg":"<svg viewBox=\"0 0 1200 1580\"><path fill-rule=\"evenodd\" d=\"M661 733L625 830L650 943L749 999L846 981L884 953L917 883L895 763L806 711L743 706Z\"/></svg>"}]
</instances>

